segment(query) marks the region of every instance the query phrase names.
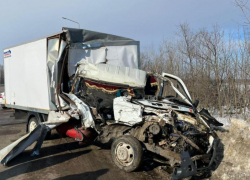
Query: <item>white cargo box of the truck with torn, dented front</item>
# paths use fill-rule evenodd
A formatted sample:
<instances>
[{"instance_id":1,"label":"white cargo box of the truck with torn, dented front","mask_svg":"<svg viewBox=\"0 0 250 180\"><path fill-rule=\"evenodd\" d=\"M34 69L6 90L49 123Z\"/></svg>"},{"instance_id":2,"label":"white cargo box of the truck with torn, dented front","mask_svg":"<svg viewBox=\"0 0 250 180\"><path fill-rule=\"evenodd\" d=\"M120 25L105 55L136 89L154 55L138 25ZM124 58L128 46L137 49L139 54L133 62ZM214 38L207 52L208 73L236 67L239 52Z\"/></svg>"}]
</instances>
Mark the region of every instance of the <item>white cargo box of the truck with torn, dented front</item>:
<instances>
[{"instance_id":1,"label":"white cargo box of the truck with torn, dented front","mask_svg":"<svg viewBox=\"0 0 250 180\"><path fill-rule=\"evenodd\" d=\"M64 110L60 93L69 93L78 62L138 69L139 55L139 41L73 28L5 48L6 107L46 114Z\"/></svg>"}]
</instances>

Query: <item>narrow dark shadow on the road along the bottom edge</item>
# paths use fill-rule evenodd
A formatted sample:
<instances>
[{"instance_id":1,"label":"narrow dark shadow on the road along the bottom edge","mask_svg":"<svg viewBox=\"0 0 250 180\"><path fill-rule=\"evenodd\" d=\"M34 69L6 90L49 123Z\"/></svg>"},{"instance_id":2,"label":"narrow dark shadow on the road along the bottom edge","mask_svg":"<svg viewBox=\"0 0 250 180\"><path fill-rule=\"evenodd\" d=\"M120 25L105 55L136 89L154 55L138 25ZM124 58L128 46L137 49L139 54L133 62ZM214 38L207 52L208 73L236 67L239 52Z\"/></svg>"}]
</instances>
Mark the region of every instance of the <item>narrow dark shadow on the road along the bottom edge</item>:
<instances>
[{"instance_id":1,"label":"narrow dark shadow on the road along the bottom edge","mask_svg":"<svg viewBox=\"0 0 250 180\"><path fill-rule=\"evenodd\" d=\"M75 179L96 180L98 179L98 177L106 174L108 171L109 171L108 169L101 169L101 170L85 172L81 174L68 175L68 176L60 177L54 180L75 180Z\"/></svg>"}]
</instances>

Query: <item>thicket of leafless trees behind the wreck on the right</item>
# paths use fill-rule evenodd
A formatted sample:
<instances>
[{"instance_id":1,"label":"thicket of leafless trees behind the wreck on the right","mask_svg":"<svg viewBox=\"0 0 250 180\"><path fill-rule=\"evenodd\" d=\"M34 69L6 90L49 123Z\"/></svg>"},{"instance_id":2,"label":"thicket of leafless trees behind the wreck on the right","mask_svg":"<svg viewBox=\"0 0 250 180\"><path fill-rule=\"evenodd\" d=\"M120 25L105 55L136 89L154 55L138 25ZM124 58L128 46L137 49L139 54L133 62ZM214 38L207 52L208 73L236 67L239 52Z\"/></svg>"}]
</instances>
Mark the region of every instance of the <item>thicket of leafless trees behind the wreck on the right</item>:
<instances>
[{"instance_id":1,"label":"thicket of leafless trees behind the wreck on the right","mask_svg":"<svg viewBox=\"0 0 250 180\"><path fill-rule=\"evenodd\" d=\"M240 29L234 36L242 36ZM193 31L187 23L181 24L177 36L164 39L158 50L142 51L141 68L179 76L192 98L200 100L200 107L219 111L220 116L248 118L250 43L246 30L243 37L235 38L232 33L225 36L218 25Z\"/></svg>"}]
</instances>

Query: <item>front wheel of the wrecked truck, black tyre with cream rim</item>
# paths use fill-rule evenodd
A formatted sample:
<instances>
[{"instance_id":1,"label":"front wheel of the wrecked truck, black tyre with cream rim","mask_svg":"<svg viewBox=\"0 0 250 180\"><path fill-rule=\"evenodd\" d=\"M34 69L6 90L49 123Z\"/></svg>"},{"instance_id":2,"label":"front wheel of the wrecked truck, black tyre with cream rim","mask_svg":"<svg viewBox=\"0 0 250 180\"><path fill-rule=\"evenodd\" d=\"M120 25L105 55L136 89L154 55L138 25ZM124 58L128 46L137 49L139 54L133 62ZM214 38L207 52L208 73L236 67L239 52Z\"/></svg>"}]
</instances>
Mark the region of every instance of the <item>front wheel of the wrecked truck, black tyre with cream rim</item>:
<instances>
[{"instance_id":1,"label":"front wheel of the wrecked truck, black tyre with cream rim","mask_svg":"<svg viewBox=\"0 0 250 180\"><path fill-rule=\"evenodd\" d=\"M114 163L126 172L140 167L143 151L140 142L133 136L121 136L112 143L111 155Z\"/></svg>"}]
</instances>

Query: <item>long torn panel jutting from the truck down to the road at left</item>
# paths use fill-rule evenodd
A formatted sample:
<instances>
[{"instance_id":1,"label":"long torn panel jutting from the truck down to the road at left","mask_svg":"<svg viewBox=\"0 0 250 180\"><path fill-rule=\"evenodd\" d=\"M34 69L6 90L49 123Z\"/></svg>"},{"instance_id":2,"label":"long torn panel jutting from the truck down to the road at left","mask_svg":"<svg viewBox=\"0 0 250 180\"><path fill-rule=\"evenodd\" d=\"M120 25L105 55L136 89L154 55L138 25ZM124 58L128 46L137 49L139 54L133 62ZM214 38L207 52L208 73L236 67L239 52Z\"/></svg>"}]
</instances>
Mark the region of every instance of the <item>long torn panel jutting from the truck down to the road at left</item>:
<instances>
[{"instance_id":1,"label":"long torn panel jutting from the truck down to the road at left","mask_svg":"<svg viewBox=\"0 0 250 180\"><path fill-rule=\"evenodd\" d=\"M50 128L44 124L39 124L32 132L24 135L20 139L16 140L9 146L0 151L1 164L6 165L10 160L15 158L21 152L23 152L28 146L37 141L37 144L33 148L32 155L38 155L43 141Z\"/></svg>"}]
</instances>

